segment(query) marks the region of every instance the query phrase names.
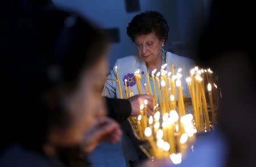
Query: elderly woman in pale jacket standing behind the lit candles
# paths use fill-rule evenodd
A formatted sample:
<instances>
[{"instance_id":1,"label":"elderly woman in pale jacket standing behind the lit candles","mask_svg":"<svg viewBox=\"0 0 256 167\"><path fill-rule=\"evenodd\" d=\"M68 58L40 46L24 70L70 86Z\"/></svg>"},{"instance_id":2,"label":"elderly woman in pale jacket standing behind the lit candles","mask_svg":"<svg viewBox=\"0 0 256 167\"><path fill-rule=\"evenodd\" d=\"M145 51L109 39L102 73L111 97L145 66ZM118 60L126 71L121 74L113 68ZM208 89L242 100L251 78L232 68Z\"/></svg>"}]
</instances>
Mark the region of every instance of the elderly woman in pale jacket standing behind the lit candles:
<instances>
[{"instance_id":1,"label":"elderly woman in pale jacket standing behind the lit candles","mask_svg":"<svg viewBox=\"0 0 256 167\"><path fill-rule=\"evenodd\" d=\"M167 71L171 71L172 63L174 63L175 72L177 72L178 68L182 68L181 73L184 77L181 78L181 83L184 85L184 93L188 95L184 78L187 78L189 74L188 70L192 67L193 61L192 59L181 57L163 49L164 44L168 40L168 31L169 27L166 19L156 11L142 12L136 15L129 23L127 35L135 43L138 53L117 59L114 68L117 66L119 79L123 82L125 79L127 80L127 86L130 87L134 95L138 94L134 72L139 69L141 85L144 85L144 83L147 83L146 73L151 73L154 69L156 69L156 72L160 71L161 66L165 63L168 64L165 68ZM117 79L114 68L108 76L110 79ZM151 92L153 92L152 79L150 78L150 80ZM125 83L121 83L122 95L125 95L124 87ZM146 92L143 91L142 93ZM117 82L108 80L105 83L103 94L109 97L120 97ZM124 139L126 140L126 137ZM123 141L123 145L126 143L129 143L127 144L128 149L125 149L126 160L137 162L138 158L135 157L136 151L129 153L132 150L131 145L134 142L130 143L130 140Z\"/></svg>"}]
</instances>

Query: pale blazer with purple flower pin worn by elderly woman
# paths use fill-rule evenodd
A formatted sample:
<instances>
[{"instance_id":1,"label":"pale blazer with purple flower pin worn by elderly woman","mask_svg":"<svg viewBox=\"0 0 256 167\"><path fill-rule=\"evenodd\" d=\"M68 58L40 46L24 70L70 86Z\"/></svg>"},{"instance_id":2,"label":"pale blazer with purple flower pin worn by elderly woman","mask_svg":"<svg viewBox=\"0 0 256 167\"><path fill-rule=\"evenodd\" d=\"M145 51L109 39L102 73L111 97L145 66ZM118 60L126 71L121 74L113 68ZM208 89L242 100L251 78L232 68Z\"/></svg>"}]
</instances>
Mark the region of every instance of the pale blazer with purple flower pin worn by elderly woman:
<instances>
[{"instance_id":1,"label":"pale blazer with purple flower pin worn by elderly woman","mask_svg":"<svg viewBox=\"0 0 256 167\"><path fill-rule=\"evenodd\" d=\"M185 78L189 76L189 71L191 68L195 65L194 61L190 58L187 57L181 57L180 55L173 54L171 52L167 52L166 54L166 63L168 64L167 66L167 71L171 71L171 64L174 63L174 71L175 73L179 68L182 68L181 74L182 74L182 79L181 79L181 84L183 86L183 93L185 93L189 97L189 92L188 92L188 87L187 83L185 82ZM122 95L123 99L125 99L125 84L123 82L123 78L125 78L125 75L127 74L134 74L136 70L139 69L140 74L141 74L141 88L142 88L142 93L144 92L143 85L144 83L147 83L147 67L146 63L143 61L141 57L138 55L130 55L127 57L119 58L115 62L115 65L113 69L110 71L110 74L108 78L110 79L117 79L115 76L114 68L117 66L117 71L118 71L118 76L121 84L121 89L122 89ZM130 87L131 92L134 93L134 95L138 95L138 89L137 85L134 84L133 86ZM151 92L153 92L151 90ZM118 91L118 85L117 82L112 81L112 80L107 80L104 86L104 89L102 91L103 96L108 96L112 98L119 98L119 91Z\"/></svg>"}]
</instances>

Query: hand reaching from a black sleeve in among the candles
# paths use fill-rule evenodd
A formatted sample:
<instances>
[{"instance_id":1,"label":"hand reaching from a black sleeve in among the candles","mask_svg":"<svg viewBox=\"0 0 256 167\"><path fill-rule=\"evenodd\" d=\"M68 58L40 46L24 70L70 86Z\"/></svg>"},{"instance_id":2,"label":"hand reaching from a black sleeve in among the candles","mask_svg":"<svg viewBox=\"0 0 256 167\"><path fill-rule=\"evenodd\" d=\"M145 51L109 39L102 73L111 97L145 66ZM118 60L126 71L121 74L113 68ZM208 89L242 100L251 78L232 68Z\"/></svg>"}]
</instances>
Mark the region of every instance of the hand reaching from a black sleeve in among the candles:
<instances>
[{"instance_id":1,"label":"hand reaching from a black sleeve in among the candles","mask_svg":"<svg viewBox=\"0 0 256 167\"><path fill-rule=\"evenodd\" d=\"M144 104L144 100L147 100L147 116L152 115L154 106L153 106L153 97L150 95L136 95L128 99L131 103L131 116L139 115L139 106Z\"/></svg>"}]
</instances>

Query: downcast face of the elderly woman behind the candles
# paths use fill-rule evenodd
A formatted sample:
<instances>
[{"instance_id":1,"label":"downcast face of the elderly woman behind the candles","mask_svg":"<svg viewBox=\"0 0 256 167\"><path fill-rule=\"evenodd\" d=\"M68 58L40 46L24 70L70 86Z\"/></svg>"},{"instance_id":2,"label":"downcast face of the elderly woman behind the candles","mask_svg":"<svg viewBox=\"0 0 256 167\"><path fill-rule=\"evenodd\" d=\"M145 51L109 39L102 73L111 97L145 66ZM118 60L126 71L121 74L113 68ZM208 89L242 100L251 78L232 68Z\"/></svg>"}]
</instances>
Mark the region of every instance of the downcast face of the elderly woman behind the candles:
<instances>
[{"instance_id":1,"label":"downcast face of the elderly woman behind the candles","mask_svg":"<svg viewBox=\"0 0 256 167\"><path fill-rule=\"evenodd\" d=\"M137 46L138 54L146 63L155 61L162 54L162 44L164 40L159 40L155 32L147 35L138 35L135 37L135 44Z\"/></svg>"}]
</instances>

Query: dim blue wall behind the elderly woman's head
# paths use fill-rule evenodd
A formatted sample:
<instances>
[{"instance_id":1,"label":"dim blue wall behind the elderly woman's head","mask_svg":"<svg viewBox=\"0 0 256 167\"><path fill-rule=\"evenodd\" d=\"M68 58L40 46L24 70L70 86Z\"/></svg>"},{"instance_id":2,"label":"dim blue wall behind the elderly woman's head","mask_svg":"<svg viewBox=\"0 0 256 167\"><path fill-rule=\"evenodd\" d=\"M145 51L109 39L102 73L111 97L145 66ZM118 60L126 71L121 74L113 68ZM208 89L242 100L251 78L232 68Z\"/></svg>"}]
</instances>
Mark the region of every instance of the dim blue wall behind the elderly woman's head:
<instances>
[{"instance_id":1,"label":"dim blue wall behind the elderly woman's head","mask_svg":"<svg viewBox=\"0 0 256 167\"><path fill-rule=\"evenodd\" d=\"M109 64L127 55L136 54L136 47L126 35L131 19L147 10L164 15L170 27L164 49L193 58L192 38L209 14L210 0L53 0L56 6L77 11L93 20L112 35Z\"/></svg>"}]
</instances>

